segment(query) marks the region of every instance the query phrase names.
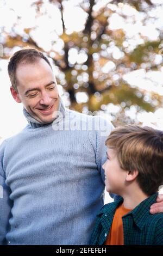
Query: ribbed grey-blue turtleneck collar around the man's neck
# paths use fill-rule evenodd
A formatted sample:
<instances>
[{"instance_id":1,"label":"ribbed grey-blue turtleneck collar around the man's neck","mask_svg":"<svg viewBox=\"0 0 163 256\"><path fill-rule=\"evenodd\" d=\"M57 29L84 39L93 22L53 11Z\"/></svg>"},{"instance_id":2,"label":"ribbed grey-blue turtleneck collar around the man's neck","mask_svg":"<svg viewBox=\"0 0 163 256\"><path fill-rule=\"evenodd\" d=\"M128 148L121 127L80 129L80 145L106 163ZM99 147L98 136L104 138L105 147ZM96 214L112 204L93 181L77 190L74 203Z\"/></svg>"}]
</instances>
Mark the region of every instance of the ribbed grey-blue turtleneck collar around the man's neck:
<instances>
[{"instance_id":1,"label":"ribbed grey-blue turtleneck collar around the man's neck","mask_svg":"<svg viewBox=\"0 0 163 256\"><path fill-rule=\"evenodd\" d=\"M61 100L61 97L60 97L60 101L59 101L59 106L58 106L58 111L61 112L61 115L57 115L57 118L55 118L55 120L51 123L41 123L40 121L36 120L34 117L32 117L32 115L30 115L26 108L23 108L23 114L24 114L24 117L27 119L28 123L30 124L30 126L32 126L32 128L38 128L38 127L41 127L41 126L45 126L45 125L49 125L49 124L58 124L59 121L65 116L65 106L64 106L64 103L62 102Z\"/></svg>"}]
</instances>

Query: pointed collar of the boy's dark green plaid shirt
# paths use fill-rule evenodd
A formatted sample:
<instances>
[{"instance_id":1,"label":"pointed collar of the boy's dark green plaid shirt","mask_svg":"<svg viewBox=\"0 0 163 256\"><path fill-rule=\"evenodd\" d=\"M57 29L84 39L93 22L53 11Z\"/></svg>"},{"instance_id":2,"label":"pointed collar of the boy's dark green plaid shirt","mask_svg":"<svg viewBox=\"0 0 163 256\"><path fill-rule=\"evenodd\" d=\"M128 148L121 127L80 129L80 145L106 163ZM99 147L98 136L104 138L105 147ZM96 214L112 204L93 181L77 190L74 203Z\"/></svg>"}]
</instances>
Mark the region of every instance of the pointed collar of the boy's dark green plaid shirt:
<instances>
[{"instance_id":1,"label":"pointed collar of the boy's dark green plaid shirt","mask_svg":"<svg viewBox=\"0 0 163 256\"><path fill-rule=\"evenodd\" d=\"M124 215L123 218L126 218L129 215L132 215L133 221L140 228L146 224L146 220L151 215L149 212L150 206L156 202L156 198L158 197L158 193L154 193L152 196L148 197L147 199L143 200L139 205L136 206L132 211L128 214ZM97 216L101 216L101 223L103 225L104 230L106 233L108 232L108 225L111 226L112 220L114 218L114 214L116 208L123 203L123 198L116 200L115 202L104 205L104 208L101 209ZM107 223L107 224L106 224Z\"/></svg>"}]
</instances>

